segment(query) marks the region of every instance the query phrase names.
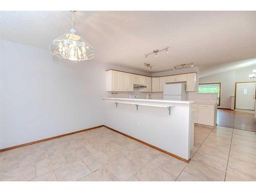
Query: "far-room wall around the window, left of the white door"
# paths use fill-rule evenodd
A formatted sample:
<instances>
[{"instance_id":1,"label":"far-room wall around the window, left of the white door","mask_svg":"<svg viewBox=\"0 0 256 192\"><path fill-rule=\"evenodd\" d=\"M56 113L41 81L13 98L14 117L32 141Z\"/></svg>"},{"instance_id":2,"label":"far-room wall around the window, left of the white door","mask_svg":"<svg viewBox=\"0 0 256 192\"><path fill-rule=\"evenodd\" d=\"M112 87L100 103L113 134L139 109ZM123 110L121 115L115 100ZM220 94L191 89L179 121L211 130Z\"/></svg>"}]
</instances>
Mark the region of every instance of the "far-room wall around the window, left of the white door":
<instances>
[{"instance_id":1,"label":"far-room wall around the window, left of the white door","mask_svg":"<svg viewBox=\"0 0 256 192\"><path fill-rule=\"evenodd\" d=\"M252 73L253 69L256 69L256 64L223 73L204 76L199 78L199 83L221 82L221 102L218 108L231 109L231 96L234 96L235 82L256 81L255 79L249 78L249 74Z\"/></svg>"}]
</instances>

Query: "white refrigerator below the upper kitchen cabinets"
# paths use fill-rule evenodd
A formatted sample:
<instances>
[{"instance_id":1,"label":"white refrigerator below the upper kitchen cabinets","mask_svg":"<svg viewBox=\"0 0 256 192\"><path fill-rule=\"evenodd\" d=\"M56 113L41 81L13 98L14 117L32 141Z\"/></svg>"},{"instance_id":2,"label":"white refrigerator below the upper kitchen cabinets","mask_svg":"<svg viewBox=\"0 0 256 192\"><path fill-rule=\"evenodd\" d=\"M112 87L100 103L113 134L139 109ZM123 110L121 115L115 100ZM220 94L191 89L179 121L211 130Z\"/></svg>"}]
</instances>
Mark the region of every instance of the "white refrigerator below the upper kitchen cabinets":
<instances>
[{"instance_id":1,"label":"white refrigerator below the upper kitchen cabinets","mask_svg":"<svg viewBox=\"0 0 256 192\"><path fill-rule=\"evenodd\" d=\"M164 100L187 100L186 83L169 83L163 87Z\"/></svg>"}]
</instances>

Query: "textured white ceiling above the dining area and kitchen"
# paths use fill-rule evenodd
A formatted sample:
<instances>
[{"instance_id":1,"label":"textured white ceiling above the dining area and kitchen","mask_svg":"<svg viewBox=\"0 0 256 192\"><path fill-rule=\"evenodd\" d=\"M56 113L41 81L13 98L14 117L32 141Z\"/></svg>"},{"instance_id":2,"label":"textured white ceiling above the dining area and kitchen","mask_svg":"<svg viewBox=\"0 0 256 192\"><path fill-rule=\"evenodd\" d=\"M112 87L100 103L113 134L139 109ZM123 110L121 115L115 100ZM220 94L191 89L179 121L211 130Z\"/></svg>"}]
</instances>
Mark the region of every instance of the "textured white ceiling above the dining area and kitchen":
<instances>
[{"instance_id":1,"label":"textured white ceiling above the dining area and kitchen","mask_svg":"<svg viewBox=\"0 0 256 192\"><path fill-rule=\"evenodd\" d=\"M69 11L1 11L1 39L48 49L71 28ZM256 58L256 11L77 11L75 29L94 60L151 72ZM144 59L154 49L169 48ZM15 51L15 50L14 50Z\"/></svg>"}]
</instances>

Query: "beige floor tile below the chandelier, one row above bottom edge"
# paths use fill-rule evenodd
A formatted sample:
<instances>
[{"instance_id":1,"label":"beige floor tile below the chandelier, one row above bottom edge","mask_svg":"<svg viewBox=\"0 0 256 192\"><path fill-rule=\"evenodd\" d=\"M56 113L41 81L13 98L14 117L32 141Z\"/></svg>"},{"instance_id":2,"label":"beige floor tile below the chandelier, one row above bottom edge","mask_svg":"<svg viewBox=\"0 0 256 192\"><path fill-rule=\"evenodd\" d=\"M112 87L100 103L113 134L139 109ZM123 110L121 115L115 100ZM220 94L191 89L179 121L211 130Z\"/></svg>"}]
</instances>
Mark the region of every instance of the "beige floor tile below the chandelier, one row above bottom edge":
<instances>
[{"instance_id":1,"label":"beige floor tile below the chandelier, one row above bottom edge","mask_svg":"<svg viewBox=\"0 0 256 192\"><path fill-rule=\"evenodd\" d=\"M91 153L87 150L87 148L83 146L78 148L73 148L71 150L63 151L62 154L66 158L68 163L73 163L77 160L80 160L84 157L91 155Z\"/></svg>"}]
</instances>

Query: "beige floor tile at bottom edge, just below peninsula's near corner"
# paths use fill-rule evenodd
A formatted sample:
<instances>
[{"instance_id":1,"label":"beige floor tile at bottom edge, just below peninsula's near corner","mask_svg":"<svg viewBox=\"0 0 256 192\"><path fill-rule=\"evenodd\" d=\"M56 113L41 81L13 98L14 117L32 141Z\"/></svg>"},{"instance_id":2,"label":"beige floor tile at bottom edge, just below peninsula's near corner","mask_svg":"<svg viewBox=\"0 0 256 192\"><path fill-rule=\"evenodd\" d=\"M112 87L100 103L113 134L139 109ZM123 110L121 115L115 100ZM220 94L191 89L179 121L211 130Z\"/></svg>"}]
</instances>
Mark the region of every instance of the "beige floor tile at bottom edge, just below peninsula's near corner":
<instances>
[{"instance_id":1,"label":"beige floor tile at bottom edge, just below peninsula's near corner","mask_svg":"<svg viewBox=\"0 0 256 192\"><path fill-rule=\"evenodd\" d=\"M225 178L225 172L194 160L191 160L184 170L204 181L224 181Z\"/></svg>"}]
</instances>

